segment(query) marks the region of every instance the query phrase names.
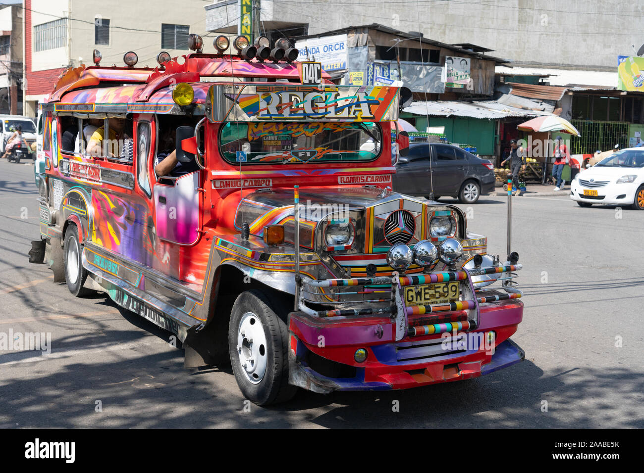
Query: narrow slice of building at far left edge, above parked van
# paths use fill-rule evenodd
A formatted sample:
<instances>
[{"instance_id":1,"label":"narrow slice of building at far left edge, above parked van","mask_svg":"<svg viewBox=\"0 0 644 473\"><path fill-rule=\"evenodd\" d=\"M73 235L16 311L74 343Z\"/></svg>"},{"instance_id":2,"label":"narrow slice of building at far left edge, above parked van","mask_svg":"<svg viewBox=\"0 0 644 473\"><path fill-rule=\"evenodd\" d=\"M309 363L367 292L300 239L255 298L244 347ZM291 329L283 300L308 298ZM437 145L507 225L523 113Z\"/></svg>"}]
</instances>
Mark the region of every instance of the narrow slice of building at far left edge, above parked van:
<instances>
[{"instance_id":1,"label":"narrow slice of building at far left edge, above parked van","mask_svg":"<svg viewBox=\"0 0 644 473\"><path fill-rule=\"evenodd\" d=\"M0 113L23 113L23 8L0 7Z\"/></svg>"}]
</instances>

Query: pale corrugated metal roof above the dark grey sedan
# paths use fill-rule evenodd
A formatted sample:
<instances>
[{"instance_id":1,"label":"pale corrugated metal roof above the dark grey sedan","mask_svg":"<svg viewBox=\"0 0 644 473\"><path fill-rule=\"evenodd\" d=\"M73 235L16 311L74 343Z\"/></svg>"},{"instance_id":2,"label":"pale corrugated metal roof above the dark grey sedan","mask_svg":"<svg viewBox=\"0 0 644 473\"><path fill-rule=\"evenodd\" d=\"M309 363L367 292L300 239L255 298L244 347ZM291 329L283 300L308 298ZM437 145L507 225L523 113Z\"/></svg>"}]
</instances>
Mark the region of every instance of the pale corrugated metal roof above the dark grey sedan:
<instances>
[{"instance_id":1,"label":"pale corrugated metal roof above the dark grey sedan","mask_svg":"<svg viewBox=\"0 0 644 473\"><path fill-rule=\"evenodd\" d=\"M527 110L501 104L497 100L478 100L476 102L454 102L447 100L413 102L404 112L414 115L431 116L468 116L470 118L506 118L507 116L541 116L550 112Z\"/></svg>"}]
</instances>

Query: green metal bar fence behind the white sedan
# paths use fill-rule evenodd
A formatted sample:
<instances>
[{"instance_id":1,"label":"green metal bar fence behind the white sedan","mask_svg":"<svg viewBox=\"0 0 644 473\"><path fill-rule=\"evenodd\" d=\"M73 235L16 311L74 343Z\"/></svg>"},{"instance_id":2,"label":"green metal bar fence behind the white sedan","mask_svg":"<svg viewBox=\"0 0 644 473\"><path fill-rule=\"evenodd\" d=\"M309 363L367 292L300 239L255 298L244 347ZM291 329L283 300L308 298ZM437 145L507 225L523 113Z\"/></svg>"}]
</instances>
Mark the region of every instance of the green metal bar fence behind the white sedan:
<instances>
[{"instance_id":1,"label":"green metal bar fence behind the white sedan","mask_svg":"<svg viewBox=\"0 0 644 473\"><path fill-rule=\"evenodd\" d=\"M592 154L598 149L608 151L616 144L629 145L629 122L571 120L582 136L571 136L571 154Z\"/></svg>"}]
</instances>

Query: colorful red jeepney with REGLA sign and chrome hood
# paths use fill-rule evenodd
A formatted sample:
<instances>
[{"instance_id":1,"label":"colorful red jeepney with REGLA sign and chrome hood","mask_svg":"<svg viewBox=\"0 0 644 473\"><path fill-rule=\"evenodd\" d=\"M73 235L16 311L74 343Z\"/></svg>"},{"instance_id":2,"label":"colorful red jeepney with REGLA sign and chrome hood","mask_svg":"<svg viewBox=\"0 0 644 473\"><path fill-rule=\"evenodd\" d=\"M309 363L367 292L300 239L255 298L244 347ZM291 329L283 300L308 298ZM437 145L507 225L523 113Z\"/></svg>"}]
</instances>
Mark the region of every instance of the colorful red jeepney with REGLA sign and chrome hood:
<instances>
[{"instance_id":1,"label":"colorful red jeepney with REGLA sign and chrome hood","mask_svg":"<svg viewBox=\"0 0 644 473\"><path fill-rule=\"evenodd\" d=\"M68 70L42 105L30 255L55 281L175 333L185 366L231 362L258 404L524 358L509 339L523 313L516 255L489 255L458 207L391 190L401 89L338 86L317 64L248 48L155 69L128 54L129 66ZM115 118L130 156L62 149L92 121L111 136ZM196 167L158 176L175 133L178 162Z\"/></svg>"}]
</instances>

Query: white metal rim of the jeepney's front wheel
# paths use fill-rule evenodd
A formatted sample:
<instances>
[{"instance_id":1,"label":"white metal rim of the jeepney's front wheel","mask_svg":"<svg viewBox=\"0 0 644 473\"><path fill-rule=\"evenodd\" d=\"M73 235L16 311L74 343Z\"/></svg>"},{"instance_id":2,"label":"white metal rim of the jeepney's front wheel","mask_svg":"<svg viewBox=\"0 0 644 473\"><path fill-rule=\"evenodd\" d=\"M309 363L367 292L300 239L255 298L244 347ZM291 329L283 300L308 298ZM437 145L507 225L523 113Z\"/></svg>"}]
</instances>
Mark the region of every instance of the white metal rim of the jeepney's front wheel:
<instances>
[{"instance_id":1,"label":"white metal rim of the jeepney's front wheel","mask_svg":"<svg viewBox=\"0 0 644 473\"><path fill-rule=\"evenodd\" d=\"M260 318L252 312L242 315L237 329L236 348L242 373L252 384L260 383L268 364L266 335Z\"/></svg>"}]
</instances>

